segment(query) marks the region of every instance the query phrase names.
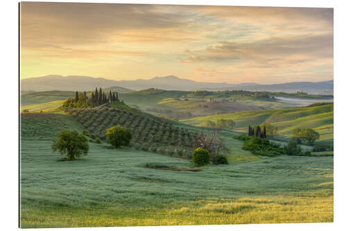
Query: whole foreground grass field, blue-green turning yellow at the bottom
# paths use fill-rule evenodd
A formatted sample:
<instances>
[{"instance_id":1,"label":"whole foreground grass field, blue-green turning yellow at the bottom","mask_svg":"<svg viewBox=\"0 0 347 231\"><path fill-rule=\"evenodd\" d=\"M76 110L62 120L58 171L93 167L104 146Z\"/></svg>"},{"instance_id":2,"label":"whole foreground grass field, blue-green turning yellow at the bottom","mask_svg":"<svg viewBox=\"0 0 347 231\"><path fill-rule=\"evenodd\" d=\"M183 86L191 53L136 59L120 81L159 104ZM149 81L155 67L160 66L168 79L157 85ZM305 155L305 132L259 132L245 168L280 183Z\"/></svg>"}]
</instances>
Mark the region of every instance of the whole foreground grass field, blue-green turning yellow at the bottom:
<instances>
[{"instance_id":1,"label":"whole foreground grass field, blue-green turning yellow at the bottom","mask_svg":"<svg viewBox=\"0 0 347 231\"><path fill-rule=\"evenodd\" d=\"M228 144L232 144L230 141ZM249 153L233 154L251 158ZM332 157L256 157L200 172L191 162L90 144L74 162L22 140L22 228L332 222ZM237 158L237 157L235 157Z\"/></svg>"}]
</instances>

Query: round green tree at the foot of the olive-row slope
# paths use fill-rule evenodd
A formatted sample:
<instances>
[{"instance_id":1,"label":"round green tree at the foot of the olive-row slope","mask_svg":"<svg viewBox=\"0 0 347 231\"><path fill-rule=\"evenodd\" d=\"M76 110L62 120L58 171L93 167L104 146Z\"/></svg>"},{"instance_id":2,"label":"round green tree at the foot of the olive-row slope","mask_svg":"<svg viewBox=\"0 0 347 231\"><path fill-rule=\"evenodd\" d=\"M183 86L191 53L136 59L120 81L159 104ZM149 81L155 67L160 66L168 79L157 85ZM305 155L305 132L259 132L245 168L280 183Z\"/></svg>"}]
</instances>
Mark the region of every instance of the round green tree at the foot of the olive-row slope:
<instances>
[{"instance_id":1,"label":"round green tree at the foot of the olive-row slope","mask_svg":"<svg viewBox=\"0 0 347 231\"><path fill-rule=\"evenodd\" d=\"M106 137L112 146L119 148L120 146L128 146L132 135L130 129L114 126L106 130Z\"/></svg>"}]
</instances>

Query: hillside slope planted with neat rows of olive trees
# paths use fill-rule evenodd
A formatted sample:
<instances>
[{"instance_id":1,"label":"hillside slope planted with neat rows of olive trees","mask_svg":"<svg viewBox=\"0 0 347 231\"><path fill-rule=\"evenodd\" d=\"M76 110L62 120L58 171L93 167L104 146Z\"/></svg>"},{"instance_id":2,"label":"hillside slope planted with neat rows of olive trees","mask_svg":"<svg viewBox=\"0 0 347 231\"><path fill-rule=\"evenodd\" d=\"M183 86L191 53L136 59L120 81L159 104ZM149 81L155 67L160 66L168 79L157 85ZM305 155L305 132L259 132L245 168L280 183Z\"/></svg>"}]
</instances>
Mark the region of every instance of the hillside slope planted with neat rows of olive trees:
<instances>
[{"instance_id":1,"label":"hillside slope planted with neat rows of olive trees","mask_svg":"<svg viewBox=\"0 0 347 231\"><path fill-rule=\"evenodd\" d=\"M106 129L119 125L132 131L130 146L143 151L190 158L194 148L194 132L150 114L107 107L74 109L69 113L76 117L85 130L103 140L106 139Z\"/></svg>"}]
</instances>

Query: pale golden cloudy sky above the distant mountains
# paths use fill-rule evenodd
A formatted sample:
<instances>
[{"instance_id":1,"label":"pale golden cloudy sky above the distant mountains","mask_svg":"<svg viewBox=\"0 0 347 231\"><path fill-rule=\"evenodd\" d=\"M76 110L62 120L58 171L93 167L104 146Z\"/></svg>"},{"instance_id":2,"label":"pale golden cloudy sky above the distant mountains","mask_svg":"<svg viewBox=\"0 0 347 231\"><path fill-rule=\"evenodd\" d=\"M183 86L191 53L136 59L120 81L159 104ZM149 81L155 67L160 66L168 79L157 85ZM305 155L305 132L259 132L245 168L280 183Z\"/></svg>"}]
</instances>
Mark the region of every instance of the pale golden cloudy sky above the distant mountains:
<instances>
[{"instance_id":1,"label":"pale golden cloudy sky above the distant mountains","mask_svg":"<svg viewBox=\"0 0 347 231\"><path fill-rule=\"evenodd\" d=\"M21 79L333 78L333 9L22 2Z\"/></svg>"}]
</instances>

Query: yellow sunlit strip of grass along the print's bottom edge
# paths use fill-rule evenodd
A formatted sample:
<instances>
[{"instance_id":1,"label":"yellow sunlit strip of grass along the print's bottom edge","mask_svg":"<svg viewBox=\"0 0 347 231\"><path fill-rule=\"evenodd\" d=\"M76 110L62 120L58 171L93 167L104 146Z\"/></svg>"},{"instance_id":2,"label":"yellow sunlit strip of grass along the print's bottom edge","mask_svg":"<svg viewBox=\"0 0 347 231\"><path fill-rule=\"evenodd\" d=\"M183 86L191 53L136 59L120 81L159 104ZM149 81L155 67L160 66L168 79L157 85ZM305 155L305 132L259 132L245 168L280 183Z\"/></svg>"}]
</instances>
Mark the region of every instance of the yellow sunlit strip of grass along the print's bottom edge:
<instances>
[{"instance_id":1,"label":"yellow sunlit strip of grass along the print's bottom edge","mask_svg":"<svg viewBox=\"0 0 347 231\"><path fill-rule=\"evenodd\" d=\"M24 207L22 228L332 222L332 200L332 196L211 199L174 209Z\"/></svg>"}]
</instances>

